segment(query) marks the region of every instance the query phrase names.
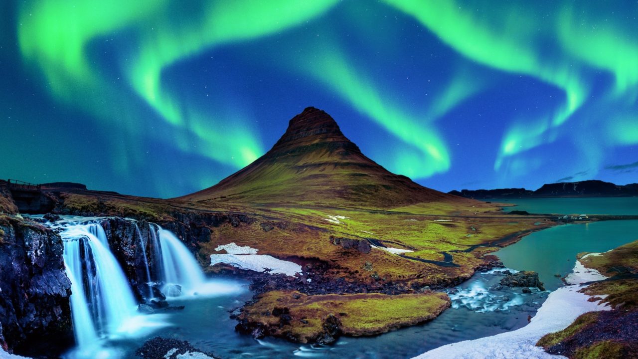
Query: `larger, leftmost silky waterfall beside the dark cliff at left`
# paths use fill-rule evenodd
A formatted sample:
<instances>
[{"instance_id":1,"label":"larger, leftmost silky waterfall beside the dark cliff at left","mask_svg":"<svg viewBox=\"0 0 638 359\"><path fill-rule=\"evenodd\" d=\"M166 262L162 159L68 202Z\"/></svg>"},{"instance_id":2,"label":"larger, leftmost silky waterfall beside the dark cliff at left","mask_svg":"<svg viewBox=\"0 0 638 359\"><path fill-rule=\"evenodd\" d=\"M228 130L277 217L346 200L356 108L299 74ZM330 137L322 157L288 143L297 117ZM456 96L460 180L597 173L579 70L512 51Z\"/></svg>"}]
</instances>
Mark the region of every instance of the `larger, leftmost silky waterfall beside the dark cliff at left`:
<instances>
[{"instance_id":1,"label":"larger, leftmost silky waterfall beside the dark cliff at left","mask_svg":"<svg viewBox=\"0 0 638 359\"><path fill-rule=\"evenodd\" d=\"M101 225L73 223L64 227L60 236L71 280L73 332L78 346L126 332L137 303L122 268L108 249Z\"/></svg>"}]
</instances>

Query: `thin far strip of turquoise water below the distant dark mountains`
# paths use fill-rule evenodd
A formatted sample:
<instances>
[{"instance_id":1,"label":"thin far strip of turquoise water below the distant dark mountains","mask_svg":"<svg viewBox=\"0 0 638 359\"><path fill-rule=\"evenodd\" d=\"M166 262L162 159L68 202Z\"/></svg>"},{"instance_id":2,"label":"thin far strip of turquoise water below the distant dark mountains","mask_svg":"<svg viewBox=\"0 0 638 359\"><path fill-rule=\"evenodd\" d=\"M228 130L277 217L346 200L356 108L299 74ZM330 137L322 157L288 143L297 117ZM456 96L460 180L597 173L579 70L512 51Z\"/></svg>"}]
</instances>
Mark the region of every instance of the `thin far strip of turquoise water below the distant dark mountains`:
<instances>
[{"instance_id":1,"label":"thin far strip of turquoise water below the distant dark mountains","mask_svg":"<svg viewBox=\"0 0 638 359\"><path fill-rule=\"evenodd\" d=\"M503 211L519 210L530 213L578 215L638 215L638 197L521 198L493 199L492 201L517 204L514 207L505 207Z\"/></svg>"}]
</instances>

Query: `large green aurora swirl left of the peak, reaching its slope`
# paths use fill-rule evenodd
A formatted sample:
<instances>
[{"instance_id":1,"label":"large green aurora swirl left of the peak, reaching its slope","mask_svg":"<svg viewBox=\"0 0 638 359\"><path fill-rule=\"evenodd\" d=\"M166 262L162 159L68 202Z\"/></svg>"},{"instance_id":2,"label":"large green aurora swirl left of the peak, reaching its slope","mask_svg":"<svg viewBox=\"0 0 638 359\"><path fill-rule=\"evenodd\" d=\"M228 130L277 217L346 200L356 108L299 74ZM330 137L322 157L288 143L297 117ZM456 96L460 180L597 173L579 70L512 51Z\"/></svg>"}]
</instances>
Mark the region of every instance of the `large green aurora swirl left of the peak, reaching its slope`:
<instances>
[{"instance_id":1,"label":"large green aurora swirl left of the peak, reaching its slope","mask_svg":"<svg viewBox=\"0 0 638 359\"><path fill-rule=\"evenodd\" d=\"M167 125L181 130L170 132L165 141L174 142L181 151L200 153L239 168L263 153L249 121L234 121L232 127L216 125L223 121L211 121L210 114L202 113L197 106L179 103L163 91L162 72L215 45L257 38L300 24L322 14L335 2L313 1L303 6L292 0L205 3L203 15L195 17L195 21L185 16L193 23L184 26L184 22L173 19L172 15L179 15L179 11L175 12L175 6L166 0L41 1L23 6L20 11L19 46L27 62L41 69L56 98L76 103L102 119L117 121L116 126L132 134L140 134L145 130L137 126L140 114L131 107L127 109L131 115L126 116L121 107L114 105L117 91L96 75L99 70L92 66L87 51L100 36L118 29L134 30L140 49L131 54L133 61L127 61L126 73L130 86ZM189 139L192 135L199 140L197 144ZM116 167L125 169L124 156L119 157Z\"/></svg>"}]
</instances>

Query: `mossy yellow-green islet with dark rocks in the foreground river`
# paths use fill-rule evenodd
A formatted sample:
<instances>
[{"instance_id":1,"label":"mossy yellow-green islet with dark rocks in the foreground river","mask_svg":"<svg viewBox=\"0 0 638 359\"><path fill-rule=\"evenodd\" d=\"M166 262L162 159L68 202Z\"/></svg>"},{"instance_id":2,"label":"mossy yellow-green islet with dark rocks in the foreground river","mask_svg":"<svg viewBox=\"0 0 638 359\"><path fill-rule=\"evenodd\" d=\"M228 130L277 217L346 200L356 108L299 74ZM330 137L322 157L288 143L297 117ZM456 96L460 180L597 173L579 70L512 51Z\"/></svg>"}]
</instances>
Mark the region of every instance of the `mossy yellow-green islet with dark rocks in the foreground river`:
<instances>
[{"instance_id":1,"label":"mossy yellow-green islet with dark rocks in the foreground river","mask_svg":"<svg viewBox=\"0 0 638 359\"><path fill-rule=\"evenodd\" d=\"M444 293L326 294L307 296L296 291L272 291L244 307L239 318L269 335L313 342L326 330L327 318L344 335L385 333L434 319L450 306Z\"/></svg>"}]
</instances>

